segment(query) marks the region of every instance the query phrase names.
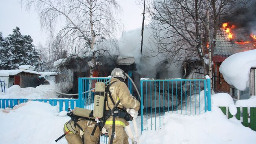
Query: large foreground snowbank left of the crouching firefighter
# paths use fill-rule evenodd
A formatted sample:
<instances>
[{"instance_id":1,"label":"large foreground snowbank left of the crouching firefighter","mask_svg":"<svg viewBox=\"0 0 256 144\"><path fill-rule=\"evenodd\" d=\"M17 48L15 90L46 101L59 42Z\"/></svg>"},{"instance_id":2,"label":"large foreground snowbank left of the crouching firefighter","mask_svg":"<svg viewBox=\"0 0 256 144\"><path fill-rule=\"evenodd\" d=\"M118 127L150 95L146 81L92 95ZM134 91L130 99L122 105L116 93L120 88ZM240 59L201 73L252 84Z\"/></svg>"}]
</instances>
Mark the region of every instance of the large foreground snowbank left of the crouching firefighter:
<instances>
[{"instance_id":1,"label":"large foreground snowbank left of the crouching firefighter","mask_svg":"<svg viewBox=\"0 0 256 144\"><path fill-rule=\"evenodd\" d=\"M54 140L63 134L63 126L70 119L61 116L63 112L58 113L57 106L38 101L15 108L5 112L0 109L2 144L56 144ZM67 144L67 141L64 138L58 144Z\"/></svg>"}]
</instances>

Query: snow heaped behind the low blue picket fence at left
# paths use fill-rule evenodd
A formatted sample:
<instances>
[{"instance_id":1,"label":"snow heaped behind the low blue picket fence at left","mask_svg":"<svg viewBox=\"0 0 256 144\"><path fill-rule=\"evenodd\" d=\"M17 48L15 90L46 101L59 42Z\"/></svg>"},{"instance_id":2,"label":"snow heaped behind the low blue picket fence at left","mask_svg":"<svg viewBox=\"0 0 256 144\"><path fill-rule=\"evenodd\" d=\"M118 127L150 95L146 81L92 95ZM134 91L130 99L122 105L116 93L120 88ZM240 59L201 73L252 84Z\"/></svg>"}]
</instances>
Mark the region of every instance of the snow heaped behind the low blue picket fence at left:
<instances>
[{"instance_id":1,"label":"snow heaped behind the low blue picket fence at left","mask_svg":"<svg viewBox=\"0 0 256 144\"><path fill-rule=\"evenodd\" d=\"M39 85L36 88L20 88L19 85L13 85L6 90L6 93L0 93L2 99L50 99L57 97L58 94L54 90L54 85Z\"/></svg>"}]
</instances>

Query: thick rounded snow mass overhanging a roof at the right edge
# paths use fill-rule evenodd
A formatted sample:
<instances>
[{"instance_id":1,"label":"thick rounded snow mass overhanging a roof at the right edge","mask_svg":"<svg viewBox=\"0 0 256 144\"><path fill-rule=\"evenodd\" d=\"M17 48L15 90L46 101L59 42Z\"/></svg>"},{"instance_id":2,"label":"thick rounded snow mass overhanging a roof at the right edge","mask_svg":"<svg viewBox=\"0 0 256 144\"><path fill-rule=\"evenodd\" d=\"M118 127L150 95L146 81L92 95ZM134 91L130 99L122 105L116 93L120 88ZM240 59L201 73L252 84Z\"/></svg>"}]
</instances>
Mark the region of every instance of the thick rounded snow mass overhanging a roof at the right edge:
<instances>
[{"instance_id":1,"label":"thick rounded snow mass overhanging a roof at the right edge","mask_svg":"<svg viewBox=\"0 0 256 144\"><path fill-rule=\"evenodd\" d=\"M228 84L245 90L249 85L251 67L256 67L256 50L233 54L223 61L219 70Z\"/></svg>"}]
</instances>

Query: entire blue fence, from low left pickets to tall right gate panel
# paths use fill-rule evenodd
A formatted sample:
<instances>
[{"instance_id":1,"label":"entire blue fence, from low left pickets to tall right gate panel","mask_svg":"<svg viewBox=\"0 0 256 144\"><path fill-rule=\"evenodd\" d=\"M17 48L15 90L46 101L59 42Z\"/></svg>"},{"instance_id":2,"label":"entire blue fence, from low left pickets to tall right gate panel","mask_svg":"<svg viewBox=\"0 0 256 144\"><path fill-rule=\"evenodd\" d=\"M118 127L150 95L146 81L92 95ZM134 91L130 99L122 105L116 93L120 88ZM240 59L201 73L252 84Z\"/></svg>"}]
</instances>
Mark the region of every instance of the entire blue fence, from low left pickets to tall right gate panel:
<instances>
[{"instance_id":1,"label":"entire blue fence, from low left pickets to tall right gate panel","mask_svg":"<svg viewBox=\"0 0 256 144\"><path fill-rule=\"evenodd\" d=\"M78 79L78 99L0 99L0 108L28 101L41 101L59 106L59 112L74 107L93 110L95 83L109 83L110 77L85 77ZM132 93L132 84L128 81ZM141 79L141 131L161 127L165 112L198 115L211 111L210 79ZM204 90L204 93L200 93ZM201 100L202 99L202 100ZM143 119L146 119L143 128Z\"/></svg>"}]
</instances>

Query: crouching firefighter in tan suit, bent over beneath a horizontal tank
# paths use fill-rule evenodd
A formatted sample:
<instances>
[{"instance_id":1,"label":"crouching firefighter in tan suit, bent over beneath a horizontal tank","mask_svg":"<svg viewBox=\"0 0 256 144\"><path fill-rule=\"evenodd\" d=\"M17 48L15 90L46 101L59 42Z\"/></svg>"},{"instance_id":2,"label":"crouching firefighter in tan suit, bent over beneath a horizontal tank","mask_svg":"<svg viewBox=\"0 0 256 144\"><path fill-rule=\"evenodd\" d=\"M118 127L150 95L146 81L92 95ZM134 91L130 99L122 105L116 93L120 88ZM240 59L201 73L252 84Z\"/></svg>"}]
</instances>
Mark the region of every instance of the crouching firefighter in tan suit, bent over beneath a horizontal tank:
<instances>
[{"instance_id":1,"label":"crouching firefighter in tan suit, bent over beneath a horizontal tank","mask_svg":"<svg viewBox=\"0 0 256 144\"><path fill-rule=\"evenodd\" d=\"M99 128L96 128L95 134L91 136L95 123L95 121L85 119L78 119L77 122L72 120L66 122L64 125L64 133L69 131L67 135L65 135L68 144L100 144Z\"/></svg>"}]
</instances>

